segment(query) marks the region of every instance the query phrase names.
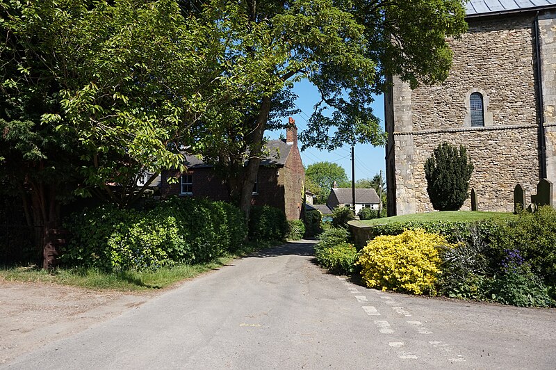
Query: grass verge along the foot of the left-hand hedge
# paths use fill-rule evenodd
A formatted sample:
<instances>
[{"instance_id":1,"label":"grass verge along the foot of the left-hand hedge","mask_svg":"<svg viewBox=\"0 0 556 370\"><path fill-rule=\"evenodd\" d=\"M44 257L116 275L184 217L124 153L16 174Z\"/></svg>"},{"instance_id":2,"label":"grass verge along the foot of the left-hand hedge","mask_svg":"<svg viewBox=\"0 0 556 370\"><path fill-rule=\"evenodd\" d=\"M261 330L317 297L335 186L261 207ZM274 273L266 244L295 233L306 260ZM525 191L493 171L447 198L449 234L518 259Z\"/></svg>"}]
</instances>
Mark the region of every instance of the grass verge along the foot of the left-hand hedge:
<instances>
[{"instance_id":1,"label":"grass verge along the foot of the left-hand hedge","mask_svg":"<svg viewBox=\"0 0 556 370\"><path fill-rule=\"evenodd\" d=\"M275 244L277 243L249 244L238 250L234 255L224 255L213 262L197 265L179 264L159 268L156 271L106 273L96 268L57 268L54 271L46 271L37 266L0 267L0 280L53 283L95 290L145 291L164 289L177 282L195 278L195 276L206 271L216 270L228 264L234 258L243 257L254 250Z\"/></svg>"}]
</instances>

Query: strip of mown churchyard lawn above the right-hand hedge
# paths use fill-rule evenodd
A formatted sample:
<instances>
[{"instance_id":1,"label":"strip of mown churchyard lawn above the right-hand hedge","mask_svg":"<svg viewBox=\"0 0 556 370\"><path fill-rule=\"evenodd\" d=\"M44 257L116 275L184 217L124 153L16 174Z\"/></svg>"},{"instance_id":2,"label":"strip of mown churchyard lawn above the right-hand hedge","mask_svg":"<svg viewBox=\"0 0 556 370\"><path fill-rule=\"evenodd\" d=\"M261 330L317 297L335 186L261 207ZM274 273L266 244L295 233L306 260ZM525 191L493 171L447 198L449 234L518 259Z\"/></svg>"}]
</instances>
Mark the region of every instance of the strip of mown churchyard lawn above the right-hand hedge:
<instances>
[{"instance_id":1,"label":"strip of mown churchyard lawn above the right-hand hedge","mask_svg":"<svg viewBox=\"0 0 556 370\"><path fill-rule=\"evenodd\" d=\"M409 221L478 221L507 219L515 217L514 214L505 212L480 212L480 211L443 211L425 212L422 214L407 214L386 218L374 218L373 220L356 221L358 225L385 225L388 223L405 223Z\"/></svg>"}]
</instances>

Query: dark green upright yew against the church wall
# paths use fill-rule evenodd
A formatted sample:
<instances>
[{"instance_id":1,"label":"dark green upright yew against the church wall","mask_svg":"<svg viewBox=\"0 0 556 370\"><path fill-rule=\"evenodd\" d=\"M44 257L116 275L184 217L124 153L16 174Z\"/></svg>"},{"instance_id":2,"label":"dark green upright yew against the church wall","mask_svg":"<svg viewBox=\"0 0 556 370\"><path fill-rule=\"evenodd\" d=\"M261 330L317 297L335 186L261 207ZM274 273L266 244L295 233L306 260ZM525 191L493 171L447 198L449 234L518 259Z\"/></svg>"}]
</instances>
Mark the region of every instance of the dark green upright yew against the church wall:
<instances>
[{"instance_id":1,"label":"dark green upright yew against the church wall","mask_svg":"<svg viewBox=\"0 0 556 370\"><path fill-rule=\"evenodd\" d=\"M427 193L438 211L457 211L468 197L473 163L463 145L441 143L425 161Z\"/></svg>"}]
</instances>

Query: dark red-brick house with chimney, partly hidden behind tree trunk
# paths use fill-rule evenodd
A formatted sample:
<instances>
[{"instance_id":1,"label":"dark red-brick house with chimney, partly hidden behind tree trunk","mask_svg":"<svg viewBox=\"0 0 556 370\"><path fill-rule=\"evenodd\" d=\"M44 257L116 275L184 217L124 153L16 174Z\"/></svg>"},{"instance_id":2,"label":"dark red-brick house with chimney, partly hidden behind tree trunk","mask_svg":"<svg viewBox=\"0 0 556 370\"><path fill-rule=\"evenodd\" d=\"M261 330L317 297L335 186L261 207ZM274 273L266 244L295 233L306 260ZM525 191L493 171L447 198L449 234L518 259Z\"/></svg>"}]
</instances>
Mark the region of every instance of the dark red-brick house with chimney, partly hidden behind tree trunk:
<instances>
[{"instance_id":1,"label":"dark red-brick house with chimney, partly hidden behind tree trunk","mask_svg":"<svg viewBox=\"0 0 556 370\"><path fill-rule=\"evenodd\" d=\"M290 118L286 140L269 140L268 156L261 167L253 188L253 205L269 205L281 209L288 220L301 216L304 193L305 170L297 147L297 127ZM161 195L193 196L212 200L229 201L227 186L213 169L195 156L186 156L188 172L163 172ZM179 176L178 184L169 184L167 178Z\"/></svg>"}]
</instances>

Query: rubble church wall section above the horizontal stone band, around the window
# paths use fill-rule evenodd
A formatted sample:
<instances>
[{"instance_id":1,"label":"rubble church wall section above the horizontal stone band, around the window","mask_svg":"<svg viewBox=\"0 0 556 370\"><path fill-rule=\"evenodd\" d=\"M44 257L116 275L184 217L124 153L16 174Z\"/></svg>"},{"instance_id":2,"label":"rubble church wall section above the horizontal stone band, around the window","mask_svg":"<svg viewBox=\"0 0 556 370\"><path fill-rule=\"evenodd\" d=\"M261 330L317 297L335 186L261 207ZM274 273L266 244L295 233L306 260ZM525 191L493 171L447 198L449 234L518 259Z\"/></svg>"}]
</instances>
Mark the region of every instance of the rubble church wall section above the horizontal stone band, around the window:
<instances>
[{"instance_id":1,"label":"rubble church wall section above the horizontal stone band, around the window","mask_svg":"<svg viewBox=\"0 0 556 370\"><path fill-rule=\"evenodd\" d=\"M536 124L533 16L469 20L468 33L448 40L448 79L411 95L413 131L463 127L466 94L484 91L493 125Z\"/></svg>"}]
</instances>

